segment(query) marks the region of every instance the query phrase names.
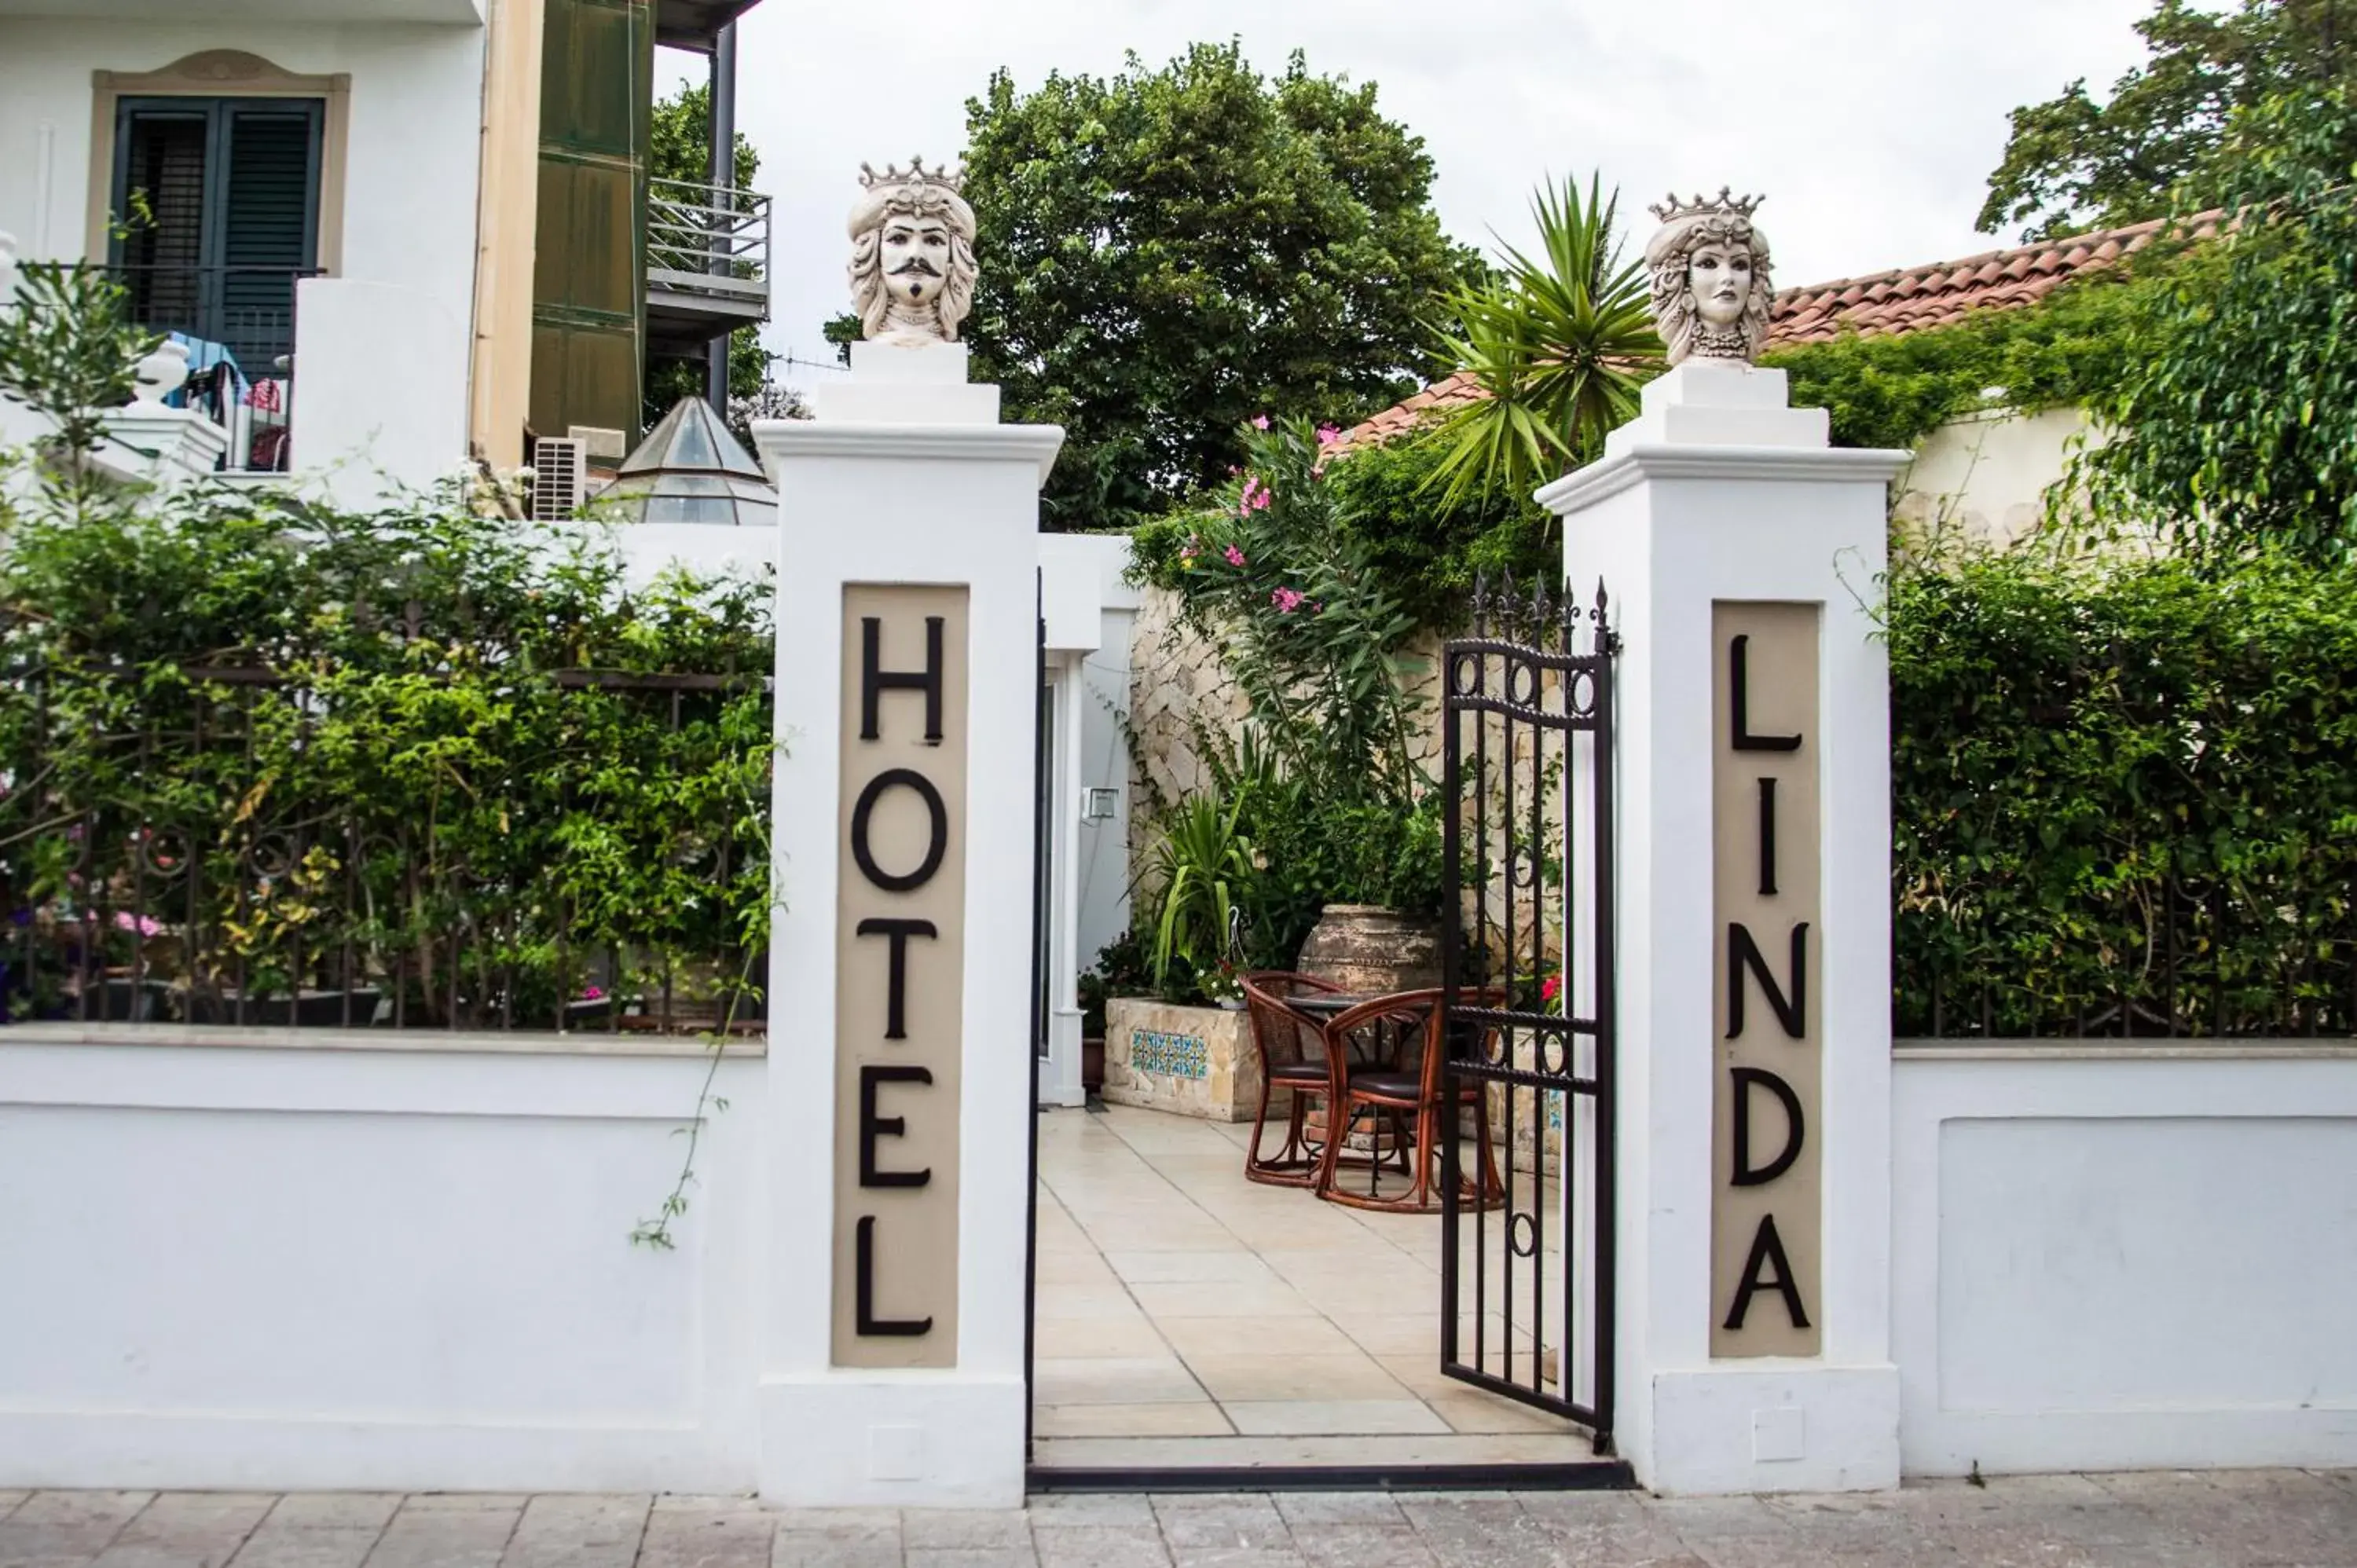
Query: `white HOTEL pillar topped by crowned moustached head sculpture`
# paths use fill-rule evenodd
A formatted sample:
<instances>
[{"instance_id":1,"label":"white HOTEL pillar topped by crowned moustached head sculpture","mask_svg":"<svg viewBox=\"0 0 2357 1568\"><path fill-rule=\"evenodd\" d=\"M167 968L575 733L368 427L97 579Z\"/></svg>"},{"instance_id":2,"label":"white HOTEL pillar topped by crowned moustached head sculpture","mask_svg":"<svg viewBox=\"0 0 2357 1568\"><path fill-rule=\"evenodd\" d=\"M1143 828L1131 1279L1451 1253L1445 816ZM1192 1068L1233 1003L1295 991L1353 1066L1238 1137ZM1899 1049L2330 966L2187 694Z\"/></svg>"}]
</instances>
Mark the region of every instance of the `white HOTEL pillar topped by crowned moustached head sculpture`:
<instances>
[{"instance_id":1,"label":"white HOTEL pillar topped by crowned moustached head sculpture","mask_svg":"<svg viewBox=\"0 0 2357 1568\"><path fill-rule=\"evenodd\" d=\"M759 1488L1023 1500L1037 512L1063 431L966 382L955 174L867 174L867 340L778 483L780 908Z\"/></svg>"}]
</instances>

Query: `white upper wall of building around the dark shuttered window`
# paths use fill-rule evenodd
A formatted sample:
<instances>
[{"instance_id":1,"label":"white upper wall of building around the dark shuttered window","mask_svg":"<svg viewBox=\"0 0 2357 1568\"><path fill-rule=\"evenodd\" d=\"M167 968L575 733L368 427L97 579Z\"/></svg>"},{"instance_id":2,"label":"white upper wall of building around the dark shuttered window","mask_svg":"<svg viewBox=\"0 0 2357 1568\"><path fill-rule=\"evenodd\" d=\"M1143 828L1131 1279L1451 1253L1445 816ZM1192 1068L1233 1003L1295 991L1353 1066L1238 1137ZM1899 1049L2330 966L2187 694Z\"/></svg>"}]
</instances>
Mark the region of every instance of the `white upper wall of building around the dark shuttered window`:
<instances>
[{"instance_id":1,"label":"white upper wall of building around the dark shuttered window","mask_svg":"<svg viewBox=\"0 0 2357 1568\"><path fill-rule=\"evenodd\" d=\"M429 483L467 457L483 40L481 26L0 19L0 229L28 259L82 257L92 71L245 50L295 75L349 73L344 264L304 285L295 460L346 498L382 490L375 467Z\"/></svg>"}]
</instances>

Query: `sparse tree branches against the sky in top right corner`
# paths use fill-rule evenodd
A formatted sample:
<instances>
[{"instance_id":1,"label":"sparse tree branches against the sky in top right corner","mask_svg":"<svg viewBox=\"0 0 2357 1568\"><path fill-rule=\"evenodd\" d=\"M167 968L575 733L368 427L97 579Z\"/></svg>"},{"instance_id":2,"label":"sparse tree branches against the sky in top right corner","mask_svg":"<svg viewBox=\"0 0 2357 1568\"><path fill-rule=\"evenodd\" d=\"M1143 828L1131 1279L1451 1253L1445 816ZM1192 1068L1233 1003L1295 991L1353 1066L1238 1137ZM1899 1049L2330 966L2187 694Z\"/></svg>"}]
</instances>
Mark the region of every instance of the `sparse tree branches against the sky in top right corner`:
<instances>
[{"instance_id":1,"label":"sparse tree branches against the sky in top right corner","mask_svg":"<svg viewBox=\"0 0 2357 1568\"><path fill-rule=\"evenodd\" d=\"M2230 12L2157 0L2135 31L2152 54L2107 101L2081 78L2013 111L1980 207L1985 233L2020 226L2036 241L2161 217L2168 191L2220 151L2234 111L2357 73L2352 0L2239 0Z\"/></svg>"}]
</instances>

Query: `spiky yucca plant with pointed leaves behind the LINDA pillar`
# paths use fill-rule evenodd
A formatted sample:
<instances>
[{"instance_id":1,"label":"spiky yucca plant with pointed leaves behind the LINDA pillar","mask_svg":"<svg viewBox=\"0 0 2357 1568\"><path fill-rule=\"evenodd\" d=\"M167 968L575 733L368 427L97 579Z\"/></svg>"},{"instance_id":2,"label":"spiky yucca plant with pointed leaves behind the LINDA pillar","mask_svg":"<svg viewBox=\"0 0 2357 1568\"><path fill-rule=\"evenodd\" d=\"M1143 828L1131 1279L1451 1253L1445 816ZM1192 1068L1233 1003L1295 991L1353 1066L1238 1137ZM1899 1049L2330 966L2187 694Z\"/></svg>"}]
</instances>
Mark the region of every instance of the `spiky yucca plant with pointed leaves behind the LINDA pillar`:
<instances>
[{"instance_id":1,"label":"spiky yucca plant with pointed leaves behind the LINDA pillar","mask_svg":"<svg viewBox=\"0 0 2357 1568\"><path fill-rule=\"evenodd\" d=\"M1539 252L1499 245L1506 266L1442 295L1433 337L1487 394L1433 431L1447 455L1428 483L1445 505L1497 488L1532 490L1586 462L1638 408L1662 368L1645 262L1624 257L1619 191L1600 179L1539 186L1530 198Z\"/></svg>"}]
</instances>

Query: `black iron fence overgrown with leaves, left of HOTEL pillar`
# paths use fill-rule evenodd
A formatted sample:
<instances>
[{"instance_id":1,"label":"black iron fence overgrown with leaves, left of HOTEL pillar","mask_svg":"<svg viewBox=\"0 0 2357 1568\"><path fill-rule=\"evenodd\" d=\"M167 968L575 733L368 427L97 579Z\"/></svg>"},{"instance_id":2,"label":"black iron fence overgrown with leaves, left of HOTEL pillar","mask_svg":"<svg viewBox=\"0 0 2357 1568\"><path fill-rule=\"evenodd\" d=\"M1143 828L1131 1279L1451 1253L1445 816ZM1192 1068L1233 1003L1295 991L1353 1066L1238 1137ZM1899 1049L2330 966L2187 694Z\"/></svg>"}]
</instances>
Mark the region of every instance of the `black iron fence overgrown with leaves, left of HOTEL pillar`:
<instances>
[{"instance_id":1,"label":"black iron fence overgrown with leaves, left of HOTEL pillar","mask_svg":"<svg viewBox=\"0 0 2357 1568\"><path fill-rule=\"evenodd\" d=\"M0 677L0 1021L754 1033L768 691Z\"/></svg>"}]
</instances>

